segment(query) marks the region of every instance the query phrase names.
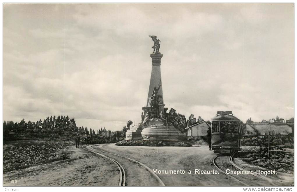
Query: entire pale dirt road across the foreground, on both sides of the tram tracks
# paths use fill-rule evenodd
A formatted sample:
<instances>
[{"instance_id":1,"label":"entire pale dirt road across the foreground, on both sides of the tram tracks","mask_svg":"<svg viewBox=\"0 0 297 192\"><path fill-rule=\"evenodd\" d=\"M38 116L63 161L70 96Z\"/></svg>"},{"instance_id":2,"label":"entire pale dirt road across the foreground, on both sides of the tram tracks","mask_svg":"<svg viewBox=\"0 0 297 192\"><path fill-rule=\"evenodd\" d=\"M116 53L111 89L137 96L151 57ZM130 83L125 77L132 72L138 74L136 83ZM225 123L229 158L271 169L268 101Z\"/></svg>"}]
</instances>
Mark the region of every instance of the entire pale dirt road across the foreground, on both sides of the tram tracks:
<instances>
[{"instance_id":1,"label":"entire pale dirt road across the foreground, on both sides of the tram tracks","mask_svg":"<svg viewBox=\"0 0 297 192\"><path fill-rule=\"evenodd\" d=\"M125 169L126 186L159 186L160 182L148 169L135 161L141 162L153 170L184 170L184 174L157 174L166 186L242 186L225 174L195 174L195 169L217 170L212 161L216 154L208 150L208 146L194 147L143 147L116 146L102 144L89 146L119 162ZM4 186L117 186L119 185L119 169L112 161L93 154L82 148L72 150L72 158L42 166L35 166L21 171L4 174ZM107 152L107 153L106 153ZM112 154L111 154L112 153ZM116 154L116 155L114 155ZM118 155L128 157L120 157ZM218 158L217 164L223 158ZM189 170L191 174L189 174ZM288 176L288 175L287 175ZM250 186L269 186L273 182L239 177ZM282 180L280 177L269 176L277 180L278 186L290 186L293 174ZM11 183L17 180L17 183Z\"/></svg>"}]
</instances>

